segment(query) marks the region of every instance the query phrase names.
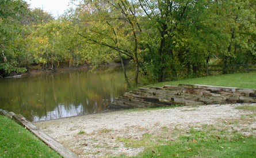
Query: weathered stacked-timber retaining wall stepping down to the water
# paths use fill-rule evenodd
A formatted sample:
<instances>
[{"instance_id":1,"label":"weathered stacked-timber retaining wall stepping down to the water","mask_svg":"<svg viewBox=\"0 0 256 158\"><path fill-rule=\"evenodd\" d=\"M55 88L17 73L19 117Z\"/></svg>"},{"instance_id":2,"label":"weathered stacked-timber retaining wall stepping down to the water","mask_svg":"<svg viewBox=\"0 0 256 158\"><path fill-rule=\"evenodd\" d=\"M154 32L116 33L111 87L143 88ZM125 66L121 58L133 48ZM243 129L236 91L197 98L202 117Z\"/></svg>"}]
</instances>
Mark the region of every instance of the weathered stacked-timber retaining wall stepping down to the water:
<instances>
[{"instance_id":1,"label":"weathered stacked-timber retaining wall stepping down to the water","mask_svg":"<svg viewBox=\"0 0 256 158\"><path fill-rule=\"evenodd\" d=\"M226 103L256 103L256 90L235 87L179 84L138 88L114 99L110 109L159 107L170 105L209 105Z\"/></svg>"}]
</instances>

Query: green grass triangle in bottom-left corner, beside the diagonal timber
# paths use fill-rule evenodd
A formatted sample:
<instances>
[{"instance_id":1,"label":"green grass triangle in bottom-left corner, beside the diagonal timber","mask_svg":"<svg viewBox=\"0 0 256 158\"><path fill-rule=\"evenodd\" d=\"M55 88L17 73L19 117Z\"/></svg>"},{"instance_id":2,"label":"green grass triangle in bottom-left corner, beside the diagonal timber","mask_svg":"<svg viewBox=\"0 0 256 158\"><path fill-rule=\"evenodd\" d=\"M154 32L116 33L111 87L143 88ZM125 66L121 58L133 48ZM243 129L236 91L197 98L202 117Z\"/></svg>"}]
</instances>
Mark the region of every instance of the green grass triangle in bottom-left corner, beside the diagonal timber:
<instances>
[{"instance_id":1,"label":"green grass triangle in bottom-left corner, beside the diagonal timber","mask_svg":"<svg viewBox=\"0 0 256 158\"><path fill-rule=\"evenodd\" d=\"M13 120L0 115L0 157L61 157Z\"/></svg>"}]
</instances>

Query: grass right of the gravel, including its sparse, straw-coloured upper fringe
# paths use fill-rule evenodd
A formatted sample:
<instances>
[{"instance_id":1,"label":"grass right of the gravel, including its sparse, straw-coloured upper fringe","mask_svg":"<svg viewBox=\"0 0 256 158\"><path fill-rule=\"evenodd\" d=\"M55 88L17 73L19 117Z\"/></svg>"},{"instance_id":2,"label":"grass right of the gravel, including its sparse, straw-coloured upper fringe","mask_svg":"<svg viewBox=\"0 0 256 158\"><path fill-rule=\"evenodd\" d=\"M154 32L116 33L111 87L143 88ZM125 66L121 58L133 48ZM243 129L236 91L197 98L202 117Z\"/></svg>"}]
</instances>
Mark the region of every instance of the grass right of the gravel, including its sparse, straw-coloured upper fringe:
<instances>
[{"instance_id":1,"label":"grass right of the gravel, including its sparse, straw-coloured upper fringe","mask_svg":"<svg viewBox=\"0 0 256 158\"><path fill-rule=\"evenodd\" d=\"M254 133L247 125L256 121L256 106L242 105L236 109L251 113L231 122L220 120L217 125L186 130L163 127L158 135L145 133L139 140L119 137L117 141L123 142L125 147L144 147L136 157L256 157L255 135L243 134ZM241 125L245 128L238 131Z\"/></svg>"}]
</instances>

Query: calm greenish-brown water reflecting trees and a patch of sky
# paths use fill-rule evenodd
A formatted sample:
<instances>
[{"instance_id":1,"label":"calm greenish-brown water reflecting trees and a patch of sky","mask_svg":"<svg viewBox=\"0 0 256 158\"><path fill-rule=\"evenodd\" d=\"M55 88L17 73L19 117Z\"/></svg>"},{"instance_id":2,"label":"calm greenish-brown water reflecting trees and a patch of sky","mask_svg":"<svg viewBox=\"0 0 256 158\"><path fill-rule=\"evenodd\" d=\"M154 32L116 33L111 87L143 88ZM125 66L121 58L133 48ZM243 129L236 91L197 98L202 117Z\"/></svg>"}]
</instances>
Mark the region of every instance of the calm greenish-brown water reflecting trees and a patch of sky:
<instances>
[{"instance_id":1,"label":"calm greenish-brown water reflecting trees and a patch of sky","mask_svg":"<svg viewBox=\"0 0 256 158\"><path fill-rule=\"evenodd\" d=\"M30 121L108 110L108 103L127 90L121 68L5 78L0 87L0 109Z\"/></svg>"}]
</instances>

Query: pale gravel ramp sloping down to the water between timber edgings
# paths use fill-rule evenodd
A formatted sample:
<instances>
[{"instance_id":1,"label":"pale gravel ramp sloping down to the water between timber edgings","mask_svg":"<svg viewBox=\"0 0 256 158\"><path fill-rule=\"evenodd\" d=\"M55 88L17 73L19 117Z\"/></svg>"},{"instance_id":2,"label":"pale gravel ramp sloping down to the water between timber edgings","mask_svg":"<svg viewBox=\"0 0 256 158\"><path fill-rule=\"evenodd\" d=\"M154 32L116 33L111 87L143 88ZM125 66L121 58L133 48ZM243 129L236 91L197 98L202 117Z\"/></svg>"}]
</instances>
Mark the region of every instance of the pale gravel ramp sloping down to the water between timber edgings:
<instances>
[{"instance_id":1,"label":"pale gravel ramp sloping down to the water between timber edgings","mask_svg":"<svg viewBox=\"0 0 256 158\"><path fill-rule=\"evenodd\" d=\"M34 124L81 157L108 157L121 154L136 156L143 151L143 148L127 148L123 142L118 141L118 138L139 140L145 133L159 136L163 128L169 131L200 128L202 125L217 125L223 121L237 120L241 115L250 113L250 111L237 110L236 106L240 105L124 110L34 122ZM255 122L247 122L244 125L252 129L244 134L256 133ZM168 134L165 138L175 140L175 137Z\"/></svg>"}]
</instances>

